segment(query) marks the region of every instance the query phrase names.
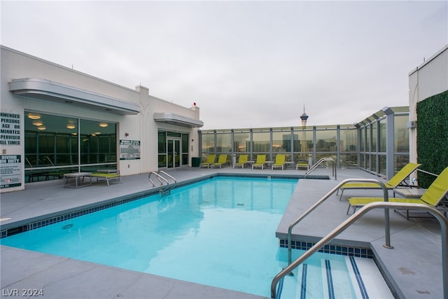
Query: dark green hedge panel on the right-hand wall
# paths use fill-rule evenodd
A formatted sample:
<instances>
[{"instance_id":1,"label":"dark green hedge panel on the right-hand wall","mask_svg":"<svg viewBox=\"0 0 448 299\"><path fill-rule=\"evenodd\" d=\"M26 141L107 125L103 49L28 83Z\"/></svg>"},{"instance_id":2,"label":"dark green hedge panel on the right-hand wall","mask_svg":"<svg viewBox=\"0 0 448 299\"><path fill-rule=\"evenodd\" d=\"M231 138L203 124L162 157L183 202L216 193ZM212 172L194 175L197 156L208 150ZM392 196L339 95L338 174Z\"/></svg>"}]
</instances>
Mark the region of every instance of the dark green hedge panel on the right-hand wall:
<instances>
[{"instance_id":1,"label":"dark green hedge panel on the right-hand wall","mask_svg":"<svg viewBox=\"0 0 448 299\"><path fill-rule=\"evenodd\" d=\"M448 167L448 90L417 103L417 160L421 169L440 174ZM428 188L435 176L419 172L419 186Z\"/></svg>"}]
</instances>

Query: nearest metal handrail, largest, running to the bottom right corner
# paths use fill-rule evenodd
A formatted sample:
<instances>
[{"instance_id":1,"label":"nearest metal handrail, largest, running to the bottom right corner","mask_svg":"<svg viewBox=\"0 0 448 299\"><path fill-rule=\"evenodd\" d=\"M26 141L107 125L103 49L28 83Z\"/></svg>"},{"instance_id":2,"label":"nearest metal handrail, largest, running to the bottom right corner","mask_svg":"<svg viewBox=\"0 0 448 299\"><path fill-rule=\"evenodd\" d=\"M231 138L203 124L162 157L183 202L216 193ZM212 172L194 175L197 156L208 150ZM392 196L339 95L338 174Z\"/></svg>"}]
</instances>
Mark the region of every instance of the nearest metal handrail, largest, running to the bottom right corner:
<instances>
[{"instance_id":1,"label":"nearest metal handrail, largest, running to the bottom right corner","mask_svg":"<svg viewBox=\"0 0 448 299\"><path fill-rule=\"evenodd\" d=\"M300 258L297 258L294 261L294 263L291 263L290 265L288 265L288 267L281 270L279 274L276 274L274 279L272 279L271 283L271 298L276 298L275 288L276 284L279 282L280 279L288 275L292 270L294 270L301 263L303 263L304 260L309 258L311 254L321 249L322 246L324 246L332 239L334 239L337 235L339 235L339 233L344 231L353 222L358 220L358 218L367 213L367 211L379 208L384 208L385 210L388 209L426 210L428 213L432 214L433 216L435 216L435 218L437 218L437 221L439 221L440 223L440 233L442 235L442 281L448 281L448 219L445 218L440 211L437 211L437 209L427 204L409 204L404 202L372 202L370 204L366 204L363 208L361 208L358 212L356 212L356 214L351 215L350 218L347 218L346 221L338 225L337 228L332 230L332 232L323 237L319 242L314 244L314 246L312 246L305 253L303 253L302 256L300 256ZM443 284L443 294L444 294L443 298L448 298L447 284Z\"/></svg>"}]
</instances>

